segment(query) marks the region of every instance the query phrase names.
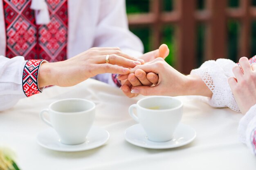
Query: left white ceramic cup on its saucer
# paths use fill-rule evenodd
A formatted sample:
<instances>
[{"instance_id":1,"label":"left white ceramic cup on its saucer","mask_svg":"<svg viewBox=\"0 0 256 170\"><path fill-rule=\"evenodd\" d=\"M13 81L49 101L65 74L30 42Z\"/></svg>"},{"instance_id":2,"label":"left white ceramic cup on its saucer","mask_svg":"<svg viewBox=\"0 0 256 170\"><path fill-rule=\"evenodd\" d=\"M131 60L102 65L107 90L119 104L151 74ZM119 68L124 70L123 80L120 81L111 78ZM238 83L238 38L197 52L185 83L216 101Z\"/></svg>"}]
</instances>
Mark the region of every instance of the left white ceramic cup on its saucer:
<instances>
[{"instance_id":1,"label":"left white ceramic cup on its saucer","mask_svg":"<svg viewBox=\"0 0 256 170\"><path fill-rule=\"evenodd\" d=\"M58 133L61 143L82 144L95 118L95 104L86 99L63 99L43 109L40 118ZM49 114L49 120L44 116Z\"/></svg>"}]
</instances>

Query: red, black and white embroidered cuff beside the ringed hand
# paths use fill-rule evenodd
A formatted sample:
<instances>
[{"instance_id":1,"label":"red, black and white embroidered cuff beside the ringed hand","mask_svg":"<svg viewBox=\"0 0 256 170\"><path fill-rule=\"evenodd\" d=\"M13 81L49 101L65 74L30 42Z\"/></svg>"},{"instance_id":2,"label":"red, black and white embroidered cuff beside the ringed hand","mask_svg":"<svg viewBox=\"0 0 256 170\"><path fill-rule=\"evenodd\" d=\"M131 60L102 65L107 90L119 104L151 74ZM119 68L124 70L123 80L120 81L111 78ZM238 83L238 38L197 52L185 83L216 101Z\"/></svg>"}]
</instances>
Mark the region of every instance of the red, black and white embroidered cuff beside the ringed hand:
<instances>
[{"instance_id":1,"label":"red, black and white embroidered cuff beside the ringed hand","mask_svg":"<svg viewBox=\"0 0 256 170\"><path fill-rule=\"evenodd\" d=\"M38 88L38 72L40 65L43 62L45 62L45 60L27 60L25 64L23 69L22 87L27 97L41 93Z\"/></svg>"}]
</instances>

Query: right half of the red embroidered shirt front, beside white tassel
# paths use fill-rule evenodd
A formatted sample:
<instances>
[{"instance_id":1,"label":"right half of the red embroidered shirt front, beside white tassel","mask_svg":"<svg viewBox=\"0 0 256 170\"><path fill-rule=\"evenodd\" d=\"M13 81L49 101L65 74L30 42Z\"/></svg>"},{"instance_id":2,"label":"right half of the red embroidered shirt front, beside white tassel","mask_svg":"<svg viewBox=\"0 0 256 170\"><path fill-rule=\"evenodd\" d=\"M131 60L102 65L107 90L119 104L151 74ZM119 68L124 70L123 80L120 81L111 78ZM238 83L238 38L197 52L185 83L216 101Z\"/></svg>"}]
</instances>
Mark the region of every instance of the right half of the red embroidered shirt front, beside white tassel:
<instances>
[{"instance_id":1,"label":"right half of the red embroidered shirt front, beside white tassel","mask_svg":"<svg viewBox=\"0 0 256 170\"><path fill-rule=\"evenodd\" d=\"M67 0L47 0L50 23L38 27L39 58L49 62L67 59Z\"/></svg>"}]
</instances>

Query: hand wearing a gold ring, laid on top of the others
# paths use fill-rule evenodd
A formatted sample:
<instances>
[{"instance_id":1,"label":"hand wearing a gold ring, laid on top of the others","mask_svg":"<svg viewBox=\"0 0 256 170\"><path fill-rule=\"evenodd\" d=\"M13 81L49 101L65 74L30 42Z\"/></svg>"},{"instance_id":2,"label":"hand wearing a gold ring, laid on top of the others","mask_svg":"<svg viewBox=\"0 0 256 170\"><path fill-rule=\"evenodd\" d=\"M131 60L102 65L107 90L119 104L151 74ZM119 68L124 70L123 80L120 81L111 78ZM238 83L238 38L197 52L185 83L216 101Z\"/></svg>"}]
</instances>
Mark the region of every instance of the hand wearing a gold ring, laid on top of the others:
<instances>
[{"instance_id":1,"label":"hand wearing a gold ring, laid on top of the others","mask_svg":"<svg viewBox=\"0 0 256 170\"><path fill-rule=\"evenodd\" d=\"M106 63L109 55L109 63ZM122 53L118 47L91 48L68 60L43 63L38 74L38 86L74 86L101 73L128 74L129 68L143 60Z\"/></svg>"}]
</instances>

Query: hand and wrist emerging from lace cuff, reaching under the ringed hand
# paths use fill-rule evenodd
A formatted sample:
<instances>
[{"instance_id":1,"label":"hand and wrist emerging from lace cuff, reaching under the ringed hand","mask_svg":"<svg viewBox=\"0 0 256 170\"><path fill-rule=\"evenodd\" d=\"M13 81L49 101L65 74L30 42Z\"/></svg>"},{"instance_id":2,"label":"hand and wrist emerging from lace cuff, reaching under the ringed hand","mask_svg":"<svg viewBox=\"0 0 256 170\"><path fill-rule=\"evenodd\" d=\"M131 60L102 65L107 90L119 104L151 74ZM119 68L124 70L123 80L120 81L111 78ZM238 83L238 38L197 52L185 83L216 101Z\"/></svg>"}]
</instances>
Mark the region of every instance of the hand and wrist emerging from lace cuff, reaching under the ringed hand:
<instances>
[{"instance_id":1,"label":"hand and wrist emerging from lace cuff, reaching under the ringed hand","mask_svg":"<svg viewBox=\"0 0 256 170\"><path fill-rule=\"evenodd\" d=\"M157 58L144 65L135 66L130 73L135 73L141 69L145 73L155 73L158 75L156 86L136 86L132 93L141 95L203 95L211 97L212 93L199 76L183 75L175 70L163 58Z\"/></svg>"}]
</instances>

